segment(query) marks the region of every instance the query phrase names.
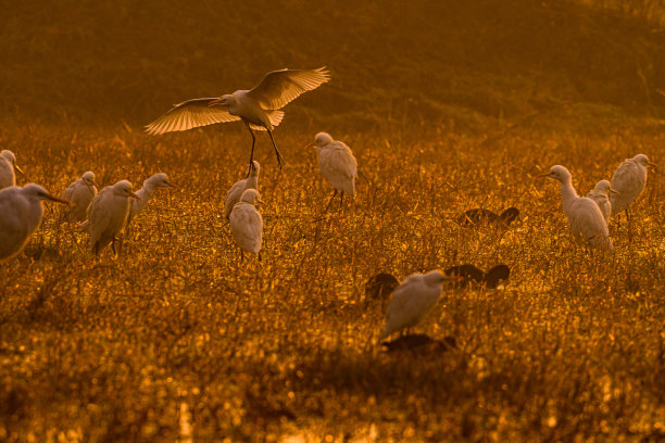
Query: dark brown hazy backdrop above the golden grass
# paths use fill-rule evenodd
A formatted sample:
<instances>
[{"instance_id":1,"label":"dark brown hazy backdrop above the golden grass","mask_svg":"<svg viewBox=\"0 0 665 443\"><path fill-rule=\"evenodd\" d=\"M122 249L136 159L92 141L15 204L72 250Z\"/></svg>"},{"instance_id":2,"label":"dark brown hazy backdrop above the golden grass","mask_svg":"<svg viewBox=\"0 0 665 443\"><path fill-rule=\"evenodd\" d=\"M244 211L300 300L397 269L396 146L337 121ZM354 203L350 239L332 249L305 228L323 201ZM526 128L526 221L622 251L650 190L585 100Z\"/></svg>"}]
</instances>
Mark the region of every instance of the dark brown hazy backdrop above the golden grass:
<instances>
[{"instance_id":1,"label":"dark brown hazy backdrop above the golden grass","mask_svg":"<svg viewBox=\"0 0 665 443\"><path fill-rule=\"evenodd\" d=\"M332 79L284 126L584 127L665 114L663 1L4 2L2 118L145 125L265 72Z\"/></svg>"}]
</instances>

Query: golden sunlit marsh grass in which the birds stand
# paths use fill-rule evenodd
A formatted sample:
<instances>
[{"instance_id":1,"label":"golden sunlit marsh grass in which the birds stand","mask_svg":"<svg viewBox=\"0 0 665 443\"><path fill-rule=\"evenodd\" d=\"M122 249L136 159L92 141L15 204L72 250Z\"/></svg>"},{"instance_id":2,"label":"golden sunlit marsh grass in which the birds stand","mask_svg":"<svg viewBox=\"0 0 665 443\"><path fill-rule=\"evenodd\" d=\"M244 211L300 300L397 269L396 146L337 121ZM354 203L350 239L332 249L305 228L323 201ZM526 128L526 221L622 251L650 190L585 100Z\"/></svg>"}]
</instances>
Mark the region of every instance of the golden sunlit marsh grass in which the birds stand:
<instances>
[{"instance_id":1,"label":"golden sunlit marsh grass in which the birds stand","mask_svg":"<svg viewBox=\"0 0 665 443\"><path fill-rule=\"evenodd\" d=\"M573 243L557 183L534 178L563 164L586 193L625 157L662 163L662 131L346 134L369 183L329 213L315 151L301 148L314 132L276 131L281 172L259 140L260 263L240 262L223 218L249 154L240 125L161 138L3 126L3 148L52 192L87 169L136 188L164 172L178 188L156 193L117 258L92 257L49 204L2 264L0 440L665 438L662 173L633 207L632 236L612 223L608 257ZM453 221L510 205L523 214L510 229ZM368 277L500 262L513 268L504 289L446 291L418 328L457 350L381 352Z\"/></svg>"}]
</instances>

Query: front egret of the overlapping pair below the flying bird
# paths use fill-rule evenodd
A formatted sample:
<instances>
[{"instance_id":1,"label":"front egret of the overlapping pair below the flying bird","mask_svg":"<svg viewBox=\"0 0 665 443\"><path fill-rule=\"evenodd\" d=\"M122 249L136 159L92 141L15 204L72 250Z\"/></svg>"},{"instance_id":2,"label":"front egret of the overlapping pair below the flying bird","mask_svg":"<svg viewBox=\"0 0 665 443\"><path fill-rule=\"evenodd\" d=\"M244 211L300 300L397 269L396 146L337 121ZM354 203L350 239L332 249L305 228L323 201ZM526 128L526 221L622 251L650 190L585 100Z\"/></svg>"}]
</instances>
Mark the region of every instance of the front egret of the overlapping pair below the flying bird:
<instances>
[{"instance_id":1,"label":"front egret of the overlapping pair below the flying bird","mask_svg":"<svg viewBox=\"0 0 665 443\"><path fill-rule=\"evenodd\" d=\"M263 217L254 207L254 204L263 203L261 195L255 189L248 189L242 192L240 201L234 205L234 208L228 218L230 223L231 233L236 243L242 250L259 255L261 260L261 241L263 237Z\"/></svg>"}]
</instances>

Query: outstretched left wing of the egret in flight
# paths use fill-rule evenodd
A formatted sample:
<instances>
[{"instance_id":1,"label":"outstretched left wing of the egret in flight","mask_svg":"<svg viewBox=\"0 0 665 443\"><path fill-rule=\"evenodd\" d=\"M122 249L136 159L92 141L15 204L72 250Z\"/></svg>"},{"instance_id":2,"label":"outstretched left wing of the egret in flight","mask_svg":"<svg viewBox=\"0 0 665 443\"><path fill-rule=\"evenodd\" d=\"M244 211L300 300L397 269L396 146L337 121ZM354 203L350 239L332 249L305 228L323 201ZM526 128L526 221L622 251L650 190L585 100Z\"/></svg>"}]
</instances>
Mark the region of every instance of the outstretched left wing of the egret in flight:
<instances>
[{"instance_id":1,"label":"outstretched left wing of the egret in flight","mask_svg":"<svg viewBox=\"0 0 665 443\"><path fill-rule=\"evenodd\" d=\"M225 106L211 106L213 100L216 98L192 99L175 104L171 111L146 125L146 132L154 136L240 119L230 115Z\"/></svg>"}]
</instances>

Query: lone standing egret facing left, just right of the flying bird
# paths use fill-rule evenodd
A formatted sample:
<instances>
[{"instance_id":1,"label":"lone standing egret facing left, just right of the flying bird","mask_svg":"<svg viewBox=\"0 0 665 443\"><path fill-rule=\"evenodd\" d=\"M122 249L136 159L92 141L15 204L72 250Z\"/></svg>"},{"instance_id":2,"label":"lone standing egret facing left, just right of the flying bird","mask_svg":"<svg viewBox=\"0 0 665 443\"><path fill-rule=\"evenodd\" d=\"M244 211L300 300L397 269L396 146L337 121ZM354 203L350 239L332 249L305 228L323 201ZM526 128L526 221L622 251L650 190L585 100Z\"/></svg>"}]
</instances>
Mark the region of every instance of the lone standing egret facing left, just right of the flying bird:
<instances>
[{"instance_id":1,"label":"lone standing egret facing left, just right of the flying bird","mask_svg":"<svg viewBox=\"0 0 665 443\"><path fill-rule=\"evenodd\" d=\"M340 206L344 199L344 193L353 195L355 191L355 178L357 177L357 162L351 149L339 140L332 140L328 132L318 132L314 142L308 148L316 145L318 151L318 168L335 188L332 197L326 206L330 207L337 191L340 191Z\"/></svg>"}]
</instances>

